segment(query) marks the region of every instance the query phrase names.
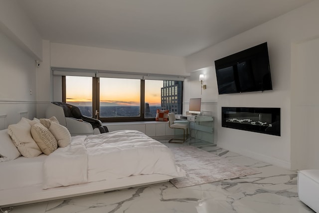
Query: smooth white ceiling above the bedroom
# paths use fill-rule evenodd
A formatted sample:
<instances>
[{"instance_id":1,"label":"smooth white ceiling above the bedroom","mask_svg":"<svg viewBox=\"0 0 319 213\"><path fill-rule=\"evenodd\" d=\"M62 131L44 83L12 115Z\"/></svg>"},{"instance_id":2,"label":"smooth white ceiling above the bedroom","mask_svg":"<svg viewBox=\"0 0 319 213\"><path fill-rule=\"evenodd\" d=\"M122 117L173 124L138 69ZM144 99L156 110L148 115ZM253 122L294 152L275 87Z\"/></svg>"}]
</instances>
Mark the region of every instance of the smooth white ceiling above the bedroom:
<instances>
[{"instance_id":1,"label":"smooth white ceiling above the bedroom","mask_svg":"<svg viewBox=\"0 0 319 213\"><path fill-rule=\"evenodd\" d=\"M187 56L312 0L18 0L45 40Z\"/></svg>"}]
</instances>

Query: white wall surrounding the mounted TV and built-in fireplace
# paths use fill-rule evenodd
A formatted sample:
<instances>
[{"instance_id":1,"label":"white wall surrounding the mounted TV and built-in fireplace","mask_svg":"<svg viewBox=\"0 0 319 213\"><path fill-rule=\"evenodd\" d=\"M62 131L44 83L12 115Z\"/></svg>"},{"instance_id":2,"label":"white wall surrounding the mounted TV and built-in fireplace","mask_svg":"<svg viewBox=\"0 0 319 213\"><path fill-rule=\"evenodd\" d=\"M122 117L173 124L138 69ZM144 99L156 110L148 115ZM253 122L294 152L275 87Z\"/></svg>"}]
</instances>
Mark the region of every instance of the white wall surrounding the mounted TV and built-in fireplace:
<instances>
[{"instance_id":1,"label":"white wall surrounding the mounted TV and built-in fireplace","mask_svg":"<svg viewBox=\"0 0 319 213\"><path fill-rule=\"evenodd\" d=\"M298 134L298 130L291 130L291 49L295 42L319 35L318 11L319 1L313 1L186 57L188 72L211 66L214 72L214 60L268 42L273 90L217 95L219 147L284 168L295 168L291 165L294 162L292 159L296 158L295 154L291 155L291 145L294 143L291 138ZM207 81L217 90L215 78ZM280 107L281 137L221 127L222 106Z\"/></svg>"}]
</instances>

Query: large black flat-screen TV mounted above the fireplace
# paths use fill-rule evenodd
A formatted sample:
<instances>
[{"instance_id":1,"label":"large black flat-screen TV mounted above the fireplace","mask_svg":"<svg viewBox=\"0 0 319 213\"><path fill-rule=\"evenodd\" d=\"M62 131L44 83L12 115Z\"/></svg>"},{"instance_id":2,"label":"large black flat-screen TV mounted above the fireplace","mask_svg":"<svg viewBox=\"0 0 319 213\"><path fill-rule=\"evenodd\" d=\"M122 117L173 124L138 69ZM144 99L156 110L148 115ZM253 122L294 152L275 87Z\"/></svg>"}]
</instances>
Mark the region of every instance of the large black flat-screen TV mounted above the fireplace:
<instances>
[{"instance_id":1,"label":"large black flat-screen TV mounted above the fireplace","mask_svg":"<svg viewBox=\"0 0 319 213\"><path fill-rule=\"evenodd\" d=\"M215 61L218 94L272 90L267 42Z\"/></svg>"}]
</instances>

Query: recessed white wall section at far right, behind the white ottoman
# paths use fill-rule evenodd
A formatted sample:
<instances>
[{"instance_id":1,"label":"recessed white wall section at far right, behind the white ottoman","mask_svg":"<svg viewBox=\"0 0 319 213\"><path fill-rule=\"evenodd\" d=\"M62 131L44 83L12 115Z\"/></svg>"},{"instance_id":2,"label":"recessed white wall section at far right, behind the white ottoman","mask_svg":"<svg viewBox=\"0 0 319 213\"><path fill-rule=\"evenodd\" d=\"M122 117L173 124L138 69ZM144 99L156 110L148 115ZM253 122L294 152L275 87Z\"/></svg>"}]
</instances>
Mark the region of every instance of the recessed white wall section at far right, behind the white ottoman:
<instances>
[{"instance_id":1,"label":"recessed white wall section at far right, behind the white ottoman","mask_svg":"<svg viewBox=\"0 0 319 213\"><path fill-rule=\"evenodd\" d=\"M292 159L293 169L319 169L319 38L302 41L293 49Z\"/></svg>"}]
</instances>

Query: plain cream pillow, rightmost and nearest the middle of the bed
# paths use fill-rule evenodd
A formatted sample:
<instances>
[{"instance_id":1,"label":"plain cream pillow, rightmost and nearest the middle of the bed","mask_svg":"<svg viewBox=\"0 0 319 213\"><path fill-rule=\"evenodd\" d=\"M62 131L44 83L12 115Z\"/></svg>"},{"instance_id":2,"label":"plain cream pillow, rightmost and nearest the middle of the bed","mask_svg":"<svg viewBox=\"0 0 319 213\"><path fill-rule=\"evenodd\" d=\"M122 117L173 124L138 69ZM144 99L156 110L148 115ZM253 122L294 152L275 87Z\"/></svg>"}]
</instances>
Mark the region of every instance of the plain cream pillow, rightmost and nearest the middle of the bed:
<instances>
[{"instance_id":1,"label":"plain cream pillow, rightmost and nearest the middle of the bed","mask_svg":"<svg viewBox=\"0 0 319 213\"><path fill-rule=\"evenodd\" d=\"M71 143L71 134L66 127L52 122L49 131L54 135L59 147L66 147Z\"/></svg>"}]
</instances>

